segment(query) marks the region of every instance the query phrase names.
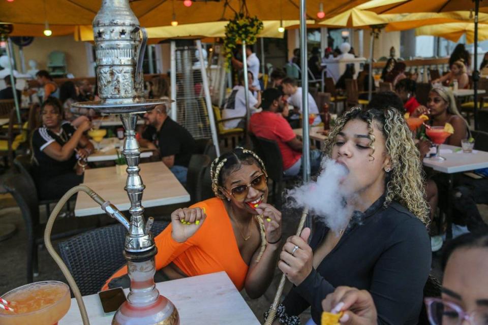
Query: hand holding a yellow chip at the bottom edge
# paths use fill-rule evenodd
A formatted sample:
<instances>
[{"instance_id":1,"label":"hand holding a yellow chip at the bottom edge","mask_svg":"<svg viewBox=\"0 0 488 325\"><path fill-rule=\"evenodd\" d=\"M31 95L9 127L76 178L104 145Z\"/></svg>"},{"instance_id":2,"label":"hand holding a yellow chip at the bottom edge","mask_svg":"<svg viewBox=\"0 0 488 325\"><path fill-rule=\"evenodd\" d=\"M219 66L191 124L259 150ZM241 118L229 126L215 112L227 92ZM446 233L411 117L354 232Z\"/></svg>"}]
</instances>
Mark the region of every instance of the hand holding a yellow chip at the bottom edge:
<instances>
[{"instance_id":1,"label":"hand holding a yellow chip at the bottom edge","mask_svg":"<svg viewBox=\"0 0 488 325\"><path fill-rule=\"evenodd\" d=\"M348 286L339 286L322 301L324 311L339 313L343 311L339 321L347 325L376 325L378 314L373 297L367 290L359 290Z\"/></svg>"}]
</instances>

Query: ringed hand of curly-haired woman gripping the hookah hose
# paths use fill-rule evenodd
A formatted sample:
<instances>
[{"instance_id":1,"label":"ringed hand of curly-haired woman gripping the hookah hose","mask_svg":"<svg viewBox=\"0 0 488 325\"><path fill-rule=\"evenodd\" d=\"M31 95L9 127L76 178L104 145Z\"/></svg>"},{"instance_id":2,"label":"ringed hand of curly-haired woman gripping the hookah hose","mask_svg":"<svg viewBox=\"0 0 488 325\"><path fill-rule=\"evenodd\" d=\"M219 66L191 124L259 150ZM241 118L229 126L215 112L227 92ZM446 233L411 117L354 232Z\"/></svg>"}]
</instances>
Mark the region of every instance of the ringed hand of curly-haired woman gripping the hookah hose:
<instances>
[{"instance_id":1,"label":"ringed hand of curly-haired woman gripping the hookah hose","mask_svg":"<svg viewBox=\"0 0 488 325\"><path fill-rule=\"evenodd\" d=\"M294 285L299 285L312 272L314 254L307 244L309 236L310 228L305 228L300 236L289 237L280 254L278 268Z\"/></svg>"}]
</instances>

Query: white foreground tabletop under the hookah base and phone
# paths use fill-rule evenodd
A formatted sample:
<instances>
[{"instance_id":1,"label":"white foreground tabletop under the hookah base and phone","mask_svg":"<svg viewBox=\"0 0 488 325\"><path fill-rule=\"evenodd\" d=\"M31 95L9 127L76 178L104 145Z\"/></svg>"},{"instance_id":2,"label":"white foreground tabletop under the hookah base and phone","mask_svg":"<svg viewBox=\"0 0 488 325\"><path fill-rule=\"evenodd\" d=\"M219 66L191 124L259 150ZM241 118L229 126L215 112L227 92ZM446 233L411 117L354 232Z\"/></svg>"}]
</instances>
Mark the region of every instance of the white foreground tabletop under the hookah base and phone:
<instances>
[{"instance_id":1,"label":"white foreground tabletop under the hookah base and phone","mask_svg":"<svg viewBox=\"0 0 488 325\"><path fill-rule=\"evenodd\" d=\"M176 307L181 325L259 325L259 321L225 272L156 283L161 295ZM129 289L124 290L126 296ZM98 295L84 296L90 325L110 325L113 313L104 315ZM81 325L76 300L59 325Z\"/></svg>"}]
</instances>

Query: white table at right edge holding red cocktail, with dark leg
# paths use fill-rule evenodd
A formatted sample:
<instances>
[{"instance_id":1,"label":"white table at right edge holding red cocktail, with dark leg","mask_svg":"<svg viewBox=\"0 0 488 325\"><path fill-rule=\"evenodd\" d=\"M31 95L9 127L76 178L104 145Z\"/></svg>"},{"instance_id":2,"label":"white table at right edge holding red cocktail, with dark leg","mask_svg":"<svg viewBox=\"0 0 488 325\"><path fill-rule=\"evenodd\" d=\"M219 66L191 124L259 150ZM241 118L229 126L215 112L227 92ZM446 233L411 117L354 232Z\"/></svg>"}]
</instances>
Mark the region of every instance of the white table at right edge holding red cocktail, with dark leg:
<instances>
[{"instance_id":1,"label":"white table at right edge holding red cocktail, with dark leg","mask_svg":"<svg viewBox=\"0 0 488 325\"><path fill-rule=\"evenodd\" d=\"M488 152L473 150L465 153L460 147L442 144L439 155L446 160L435 160L430 157L423 159L423 166L448 175L447 195L451 198L454 186L454 174L468 172L481 168L488 168ZM447 200L447 230L446 238L452 238L452 200Z\"/></svg>"}]
</instances>

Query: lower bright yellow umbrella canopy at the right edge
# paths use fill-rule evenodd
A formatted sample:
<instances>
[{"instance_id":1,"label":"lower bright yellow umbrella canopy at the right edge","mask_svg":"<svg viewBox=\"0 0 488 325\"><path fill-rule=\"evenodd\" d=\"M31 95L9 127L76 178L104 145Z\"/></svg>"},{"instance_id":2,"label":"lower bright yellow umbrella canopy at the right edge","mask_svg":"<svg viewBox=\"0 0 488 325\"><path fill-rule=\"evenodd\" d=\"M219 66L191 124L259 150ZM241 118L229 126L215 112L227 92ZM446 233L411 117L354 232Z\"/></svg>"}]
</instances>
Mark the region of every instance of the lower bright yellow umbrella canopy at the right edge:
<instances>
[{"instance_id":1,"label":"lower bright yellow umbrella canopy at the right edge","mask_svg":"<svg viewBox=\"0 0 488 325\"><path fill-rule=\"evenodd\" d=\"M474 24L473 23L446 23L438 25L428 25L415 28L415 35L431 35L457 42L466 34L466 43L474 42ZM488 40L488 25L478 25L478 41Z\"/></svg>"}]
</instances>

